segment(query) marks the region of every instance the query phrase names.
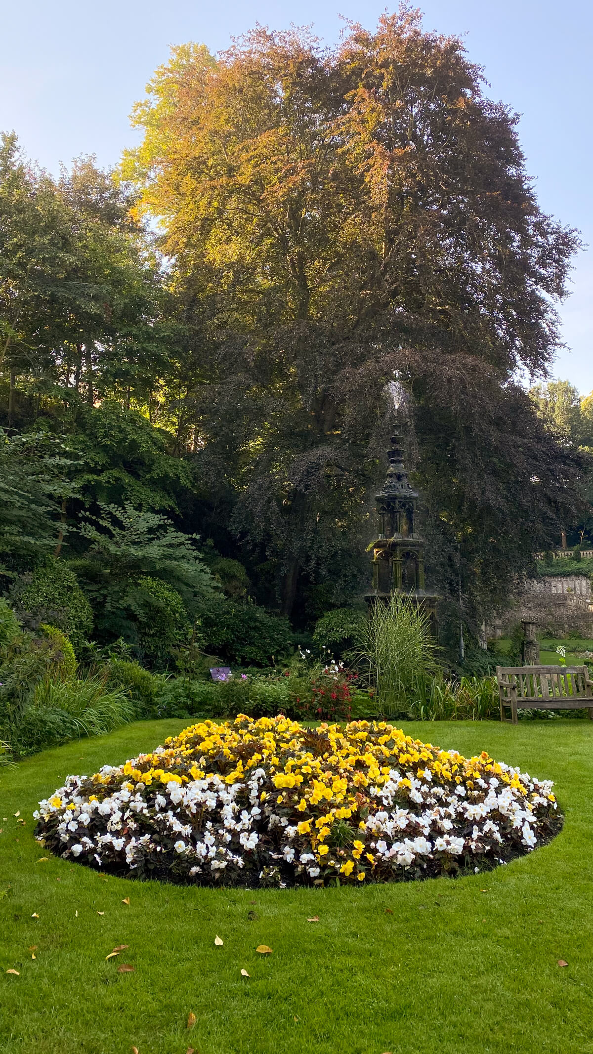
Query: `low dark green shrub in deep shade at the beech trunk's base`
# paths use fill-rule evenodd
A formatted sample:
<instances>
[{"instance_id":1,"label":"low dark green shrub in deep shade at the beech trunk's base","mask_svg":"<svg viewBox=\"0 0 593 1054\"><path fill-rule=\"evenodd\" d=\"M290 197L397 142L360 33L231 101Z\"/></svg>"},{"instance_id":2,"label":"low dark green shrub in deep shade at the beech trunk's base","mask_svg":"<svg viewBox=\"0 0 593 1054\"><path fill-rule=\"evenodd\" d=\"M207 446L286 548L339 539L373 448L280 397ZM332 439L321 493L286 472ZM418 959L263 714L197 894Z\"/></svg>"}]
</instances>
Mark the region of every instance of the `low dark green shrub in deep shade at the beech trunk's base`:
<instances>
[{"instance_id":1,"label":"low dark green shrub in deep shade at the beech trunk's base","mask_svg":"<svg viewBox=\"0 0 593 1054\"><path fill-rule=\"evenodd\" d=\"M268 666L293 645L288 619L270 614L255 604L213 598L200 612L205 647L229 663Z\"/></svg>"}]
</instances>

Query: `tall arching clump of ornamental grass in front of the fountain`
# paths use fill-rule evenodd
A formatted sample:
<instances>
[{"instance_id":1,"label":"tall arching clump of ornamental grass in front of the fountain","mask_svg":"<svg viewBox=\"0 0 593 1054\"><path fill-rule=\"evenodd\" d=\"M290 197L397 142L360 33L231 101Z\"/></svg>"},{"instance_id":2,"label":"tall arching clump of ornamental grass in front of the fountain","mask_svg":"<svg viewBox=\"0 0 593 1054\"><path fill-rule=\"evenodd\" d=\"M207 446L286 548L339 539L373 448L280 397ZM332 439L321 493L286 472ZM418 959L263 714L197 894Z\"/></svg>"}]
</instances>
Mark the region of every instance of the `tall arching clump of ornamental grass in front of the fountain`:
<instances>
[{"instance_id":1,"label":"tall arching clump of ornamental grass in front of the fountain","mask_svg":"<svg viewBox=\"0 0 593 1054\"><path fill-rule=\"evenodd\" d=\"M422 607L400 593L372 605L353 653L365 668L377 704L386 715L406 709L418 681L437 669L429 617Z\"/></svg>"}]
</instances>

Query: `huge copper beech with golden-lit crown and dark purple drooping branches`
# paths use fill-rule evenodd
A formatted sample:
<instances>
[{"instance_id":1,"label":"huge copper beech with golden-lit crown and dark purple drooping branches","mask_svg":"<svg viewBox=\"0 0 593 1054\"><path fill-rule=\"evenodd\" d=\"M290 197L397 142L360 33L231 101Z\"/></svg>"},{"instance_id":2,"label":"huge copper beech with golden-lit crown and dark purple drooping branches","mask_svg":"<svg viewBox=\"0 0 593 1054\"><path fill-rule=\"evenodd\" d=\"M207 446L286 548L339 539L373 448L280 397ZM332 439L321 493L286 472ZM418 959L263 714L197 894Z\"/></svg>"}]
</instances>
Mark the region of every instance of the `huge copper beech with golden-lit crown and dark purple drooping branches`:
<instances>
[{"instance_id":1,"label":"huge copper beech with golden-lit crown and dark purple drooping branches","mask_svg":"<svg viewBox=\"0 0 593 1054\"><path fill-rule=\"evenodd\" d=\"M476 611L574 504L578 457L514 378L558 347L578 238L540 211L517 116L485 87L402 6L335 48L264 28L216 57L176 47L135 108L123 172L190 334L184 427L286 612L299 581L356 582L394 371Z\"/></svg>"}]
</instances>

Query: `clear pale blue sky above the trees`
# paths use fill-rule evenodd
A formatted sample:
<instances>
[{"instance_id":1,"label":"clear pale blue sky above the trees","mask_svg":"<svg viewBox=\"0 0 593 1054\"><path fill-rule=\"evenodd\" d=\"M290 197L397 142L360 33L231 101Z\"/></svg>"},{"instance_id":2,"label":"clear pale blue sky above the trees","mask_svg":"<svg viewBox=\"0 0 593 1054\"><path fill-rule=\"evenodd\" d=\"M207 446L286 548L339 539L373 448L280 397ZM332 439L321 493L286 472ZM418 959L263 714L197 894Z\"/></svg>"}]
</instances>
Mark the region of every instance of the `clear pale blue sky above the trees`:
<instances>
[{"instance_id":1,"label":"clear pale blue sky above the trees","mask_svg":"<svg viewBox=\"0 0 593 1054\"><path fill-rule=\"evenodd\" d=\"M395 3L390 9L395 7ZM555 375L593 389L592 0L424 0L429 30L463 35L489 92L521 114L519 135L541 207L577 227L572 296L560 309ZM127 116L169 45L224 48L256 22L311 24L337 39L339 15L372 27L384 0L0 0L0 129L57 172L80 154L115 164L137 141ZM568 350L570 349L570 350Z\"/></svg>"}]
</instances>

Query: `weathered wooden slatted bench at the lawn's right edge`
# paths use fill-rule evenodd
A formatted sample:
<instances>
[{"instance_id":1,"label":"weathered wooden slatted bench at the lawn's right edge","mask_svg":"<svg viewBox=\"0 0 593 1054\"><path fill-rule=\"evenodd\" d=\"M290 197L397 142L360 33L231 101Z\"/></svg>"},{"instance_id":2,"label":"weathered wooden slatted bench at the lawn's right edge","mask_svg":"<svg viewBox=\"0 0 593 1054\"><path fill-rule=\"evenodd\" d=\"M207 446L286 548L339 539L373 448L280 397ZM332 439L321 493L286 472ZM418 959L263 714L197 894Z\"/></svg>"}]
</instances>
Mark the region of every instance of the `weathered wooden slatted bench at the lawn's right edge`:
<instances>
[{"instance_id":1,"label":"weathered wooden slatted bench at the lawn's right edge","mask_svg":"<svg viewBox=\"0 0 593 1054\"><path fill-rule=\"evenodd\" d=\"M517 723L517 707L537 710L589 709L593 681L587 666L497 666L500 720ZM510 706L511 717L505 717Z\"/></svg>"}]
</instances>

